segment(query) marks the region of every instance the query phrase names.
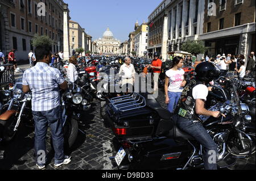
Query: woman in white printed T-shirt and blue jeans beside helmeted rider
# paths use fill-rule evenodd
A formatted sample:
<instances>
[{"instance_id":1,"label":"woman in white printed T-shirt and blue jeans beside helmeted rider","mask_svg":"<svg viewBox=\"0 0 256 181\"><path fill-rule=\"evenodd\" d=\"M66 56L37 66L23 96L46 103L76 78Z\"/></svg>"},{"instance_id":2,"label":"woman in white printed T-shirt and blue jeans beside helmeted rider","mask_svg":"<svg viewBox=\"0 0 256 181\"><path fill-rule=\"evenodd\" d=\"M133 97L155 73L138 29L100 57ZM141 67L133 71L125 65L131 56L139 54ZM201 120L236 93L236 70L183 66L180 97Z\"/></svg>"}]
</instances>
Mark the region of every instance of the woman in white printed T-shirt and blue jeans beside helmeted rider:
<instances>
[{"instance_id":1,"label":"woman in white printed T-shirt and blue jeans beside helmeted rider","mask_svg":"<svg viewBox=\"0 0 256 181\"><path fill-rule=\"evenodd\" d=\"M174 112L177 102L180 99L181 92L183 91L183 87L187 83L184 80L185 71L182 67L183 58L175 57L174 60L172 60L172 68L166 71L164 91L166 93L166 104L168 104L168 110L171 113Z\"/></svg>"}]
</instances>

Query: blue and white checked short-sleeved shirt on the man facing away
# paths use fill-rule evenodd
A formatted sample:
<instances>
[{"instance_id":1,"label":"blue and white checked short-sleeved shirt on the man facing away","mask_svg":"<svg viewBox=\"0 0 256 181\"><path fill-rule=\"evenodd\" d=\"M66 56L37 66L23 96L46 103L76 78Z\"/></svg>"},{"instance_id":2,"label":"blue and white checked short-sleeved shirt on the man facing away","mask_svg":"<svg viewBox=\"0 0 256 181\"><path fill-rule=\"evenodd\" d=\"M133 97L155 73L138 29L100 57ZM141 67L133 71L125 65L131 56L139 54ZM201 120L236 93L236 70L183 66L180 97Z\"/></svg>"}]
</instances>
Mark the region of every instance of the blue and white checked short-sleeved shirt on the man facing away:
<instances>
[{"instance_id":1,"label":"blue and white checked short-sleeved shirt on the man facing away","mask_svg":"<svg viewBox=\"0 0 256 181\"><path fill-rule=\"evenodd\" d=\"M32 91L32 111L49 111L60 106L59 85L65 79L60 71L38 62L23 74L23 85Z\"/></svg>"}]
</instances>

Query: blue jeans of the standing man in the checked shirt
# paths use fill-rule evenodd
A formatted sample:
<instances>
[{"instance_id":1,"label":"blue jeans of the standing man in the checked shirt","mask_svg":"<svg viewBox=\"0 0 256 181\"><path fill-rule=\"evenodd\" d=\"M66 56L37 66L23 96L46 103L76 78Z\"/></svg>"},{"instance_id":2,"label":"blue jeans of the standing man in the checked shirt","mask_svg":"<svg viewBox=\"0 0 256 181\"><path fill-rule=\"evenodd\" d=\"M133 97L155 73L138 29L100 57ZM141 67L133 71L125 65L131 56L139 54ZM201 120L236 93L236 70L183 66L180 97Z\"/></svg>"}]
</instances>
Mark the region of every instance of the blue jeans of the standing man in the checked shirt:
<instances>
[{"instance_id":1,"label":"blue jeans of the standing man in the checked shirt","mask_svg":"<svg viewBox=\"0 0 256 181\"><path fill-rule=\"evenodd\" d=\"M46 158L46 133L48 125L51 128L53 148L55 150L55 164L64 161L64 136L61 119L61 108L56 107L50 111L33 111L35 121L35 151L36 163L45 165L46 159L42 159L42 153Z\"/></svg>"}]
</instances>

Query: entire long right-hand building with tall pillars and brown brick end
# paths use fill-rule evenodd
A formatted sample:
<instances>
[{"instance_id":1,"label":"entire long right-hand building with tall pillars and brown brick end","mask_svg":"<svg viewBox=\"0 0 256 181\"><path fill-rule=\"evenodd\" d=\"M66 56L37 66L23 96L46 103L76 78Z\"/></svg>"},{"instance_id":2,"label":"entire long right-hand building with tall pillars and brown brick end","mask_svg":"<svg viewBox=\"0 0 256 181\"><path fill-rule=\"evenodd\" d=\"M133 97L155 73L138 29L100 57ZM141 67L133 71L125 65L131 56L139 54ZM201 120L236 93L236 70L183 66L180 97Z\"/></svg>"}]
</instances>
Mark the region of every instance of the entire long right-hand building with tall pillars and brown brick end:
<instances>
[{"instance_id":1,"label":"entire long right-hand building with tall pillars and brown brick end","mask_svg":"<svg viewBox=\"0 0 256 181\"><path fill-rule=\"evenodd\" d=\"M164 0L148 16L148 55L181 50L187 40L203 40L208 56L255 51L255 1Z\"/></svg>"}]
</instances>

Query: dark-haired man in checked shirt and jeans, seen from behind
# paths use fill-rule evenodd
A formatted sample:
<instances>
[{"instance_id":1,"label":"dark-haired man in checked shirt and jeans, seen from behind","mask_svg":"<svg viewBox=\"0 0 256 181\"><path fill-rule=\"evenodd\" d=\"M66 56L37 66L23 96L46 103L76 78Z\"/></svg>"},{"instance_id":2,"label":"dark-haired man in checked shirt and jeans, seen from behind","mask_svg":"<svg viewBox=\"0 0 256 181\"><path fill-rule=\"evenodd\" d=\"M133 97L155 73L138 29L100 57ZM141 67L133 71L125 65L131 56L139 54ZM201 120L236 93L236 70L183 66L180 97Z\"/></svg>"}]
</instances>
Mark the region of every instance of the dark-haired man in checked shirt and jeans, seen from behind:
<instances>
[{"instance_id":1,"label":"dark-haired man in checked shirt and jeans, seen from behind","mask_svg":"<svg viewBox=\"0 0 256 181\"><path fill-rule=\"evenodd\" d=\"M67 89L60 71L51 68L51 46L35 48L38 63L27 69L23 74L23 92L32 92L32 113L35 121L36 165L39 169L46 168L46 134L51 127L55 165L57 169L71 162L71 157L64 155L63 123L61 119L60 89Z\"/></svg>"}]
</instances>

